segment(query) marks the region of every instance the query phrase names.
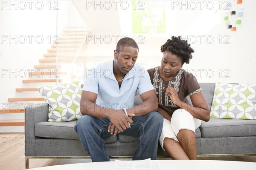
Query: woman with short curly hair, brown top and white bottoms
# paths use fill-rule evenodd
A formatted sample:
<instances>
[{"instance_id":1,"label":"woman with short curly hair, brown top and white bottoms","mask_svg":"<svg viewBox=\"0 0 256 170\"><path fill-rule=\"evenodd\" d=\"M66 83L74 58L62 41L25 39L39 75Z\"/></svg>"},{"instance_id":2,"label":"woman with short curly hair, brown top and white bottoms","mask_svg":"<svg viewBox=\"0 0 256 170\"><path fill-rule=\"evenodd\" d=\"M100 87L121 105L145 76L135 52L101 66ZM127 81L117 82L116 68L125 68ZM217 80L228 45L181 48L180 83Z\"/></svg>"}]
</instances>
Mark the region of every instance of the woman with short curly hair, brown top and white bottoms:
<instances>
[{"instance_id":1,"label":"woman with short curly hair, brown top and white bottoms","mask_svg":"<svg viewBox=\"0 0 256 170\"><path fill-rule=\"evenodd\" d=\"M196 159L195 130L201 120L209 121L210 115L195 76L182 69L194 50L187 40L172 37L161 46L161 52L161 65L148 69L157 93L157 112L164 117L159 142L172 159ZM186 102L188 95L193 106Z\"/></svg>"}]
</instances>

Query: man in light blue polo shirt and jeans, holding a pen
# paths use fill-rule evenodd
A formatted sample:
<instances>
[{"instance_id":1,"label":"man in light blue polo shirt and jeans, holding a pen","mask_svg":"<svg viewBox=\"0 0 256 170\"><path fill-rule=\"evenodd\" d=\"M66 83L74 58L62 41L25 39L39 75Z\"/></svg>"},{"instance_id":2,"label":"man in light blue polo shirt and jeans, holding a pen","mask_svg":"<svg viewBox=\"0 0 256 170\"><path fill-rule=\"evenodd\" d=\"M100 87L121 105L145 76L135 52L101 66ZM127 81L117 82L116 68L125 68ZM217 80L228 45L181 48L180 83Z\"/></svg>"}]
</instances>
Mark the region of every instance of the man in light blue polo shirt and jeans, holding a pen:
<instances>
[{"instance_id":1,"label":"man in light blue polo shirt and jeans, holding a pen","mask_svg":"<svg viewBox=\"0 0 256 170\"><path fill-rule=\"evenodd\" d=\"M133 160L156 159L163 116L154 112L158 102L148 72L135 65L138 53L132 38L122 38L114 50L114 60L87 72L80 103L84 116L74 129L93 162L110 161L103 139L118 133L138 137ZM137 89L143 103L133 107Z\"/></svg>"}]
</instances>

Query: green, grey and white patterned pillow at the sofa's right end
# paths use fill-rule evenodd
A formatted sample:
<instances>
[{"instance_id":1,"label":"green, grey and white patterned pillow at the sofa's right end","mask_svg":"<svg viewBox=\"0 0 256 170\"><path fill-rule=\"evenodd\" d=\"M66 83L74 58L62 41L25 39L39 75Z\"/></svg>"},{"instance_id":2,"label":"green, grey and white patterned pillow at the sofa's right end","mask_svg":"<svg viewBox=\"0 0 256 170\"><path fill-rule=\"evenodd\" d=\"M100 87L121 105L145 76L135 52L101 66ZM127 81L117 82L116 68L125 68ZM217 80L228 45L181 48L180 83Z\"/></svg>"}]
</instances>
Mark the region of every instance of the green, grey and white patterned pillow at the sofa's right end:
<instances>
[{"instance_id":1,"label":"green, grey and white patterned pillow at the sofa's right end","mask_svg":"<svg viewBox=\"0 0 256 170\"><path fill-rule=\"evenodd\" d=\"M227 119L256 119L256 85L215 83L210 116Z\"/></svg>"}]
</instances>

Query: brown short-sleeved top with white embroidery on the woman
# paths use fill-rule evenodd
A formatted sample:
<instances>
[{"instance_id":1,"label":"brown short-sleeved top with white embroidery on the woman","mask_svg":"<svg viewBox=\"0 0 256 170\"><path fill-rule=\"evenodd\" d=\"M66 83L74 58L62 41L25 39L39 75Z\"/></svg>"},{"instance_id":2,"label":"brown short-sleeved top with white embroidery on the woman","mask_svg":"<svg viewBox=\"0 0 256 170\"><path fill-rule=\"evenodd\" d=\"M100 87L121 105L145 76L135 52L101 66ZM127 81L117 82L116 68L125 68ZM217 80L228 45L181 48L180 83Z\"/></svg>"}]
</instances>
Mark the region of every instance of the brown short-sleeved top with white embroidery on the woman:
<instances>
[{"instance_id":1,"label":"brown short-sleeved top with white embroidery on the woman","mask_svg":"<svg viewBox=\"0 0 256 170\"><path fill-rule=\"evenodd\" d=\"M170 81L164 81L159 74L159 66L148 69L148 74L151 79L151 83L153 84L159 107L163 108L169 115L180 109L175 104L172 103L168 94L166 94L166 89L169 86L172 86L176 91L180 98L180 101L184 101L188 103L186 97L189 95L193 95L201 91L201 87L198 84L195 76L192 73L189 73L182 68L177 72L177 74Z\"/></svg>"}]
</instances>

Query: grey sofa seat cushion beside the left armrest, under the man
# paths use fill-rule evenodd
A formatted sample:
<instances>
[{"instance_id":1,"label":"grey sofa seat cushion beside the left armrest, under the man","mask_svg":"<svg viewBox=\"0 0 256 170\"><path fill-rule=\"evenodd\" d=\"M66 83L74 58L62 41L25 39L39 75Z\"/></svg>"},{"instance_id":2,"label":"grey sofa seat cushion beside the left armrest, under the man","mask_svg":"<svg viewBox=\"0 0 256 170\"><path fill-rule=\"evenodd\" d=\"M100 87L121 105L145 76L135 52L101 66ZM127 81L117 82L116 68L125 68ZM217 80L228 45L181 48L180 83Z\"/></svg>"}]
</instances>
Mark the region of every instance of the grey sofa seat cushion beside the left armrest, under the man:
<instances>
[{"instance_id":1,"label":"grey sofa seat cushion beside the left armrest, under the man","mask_svg":"<svg viewBox=\"0 0 256 170\"><path fill-rule=\"evenodd\" d=\"M41 138L60 138L60 139L76 139L80 140L78 134L73 129L76 121L67 122L49 122L44 121L35 124L35 136ZM106 144L117 142L117 137L112 135L105 140Z\"/></svg>"}]
</instances>

